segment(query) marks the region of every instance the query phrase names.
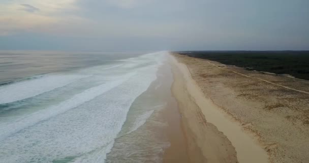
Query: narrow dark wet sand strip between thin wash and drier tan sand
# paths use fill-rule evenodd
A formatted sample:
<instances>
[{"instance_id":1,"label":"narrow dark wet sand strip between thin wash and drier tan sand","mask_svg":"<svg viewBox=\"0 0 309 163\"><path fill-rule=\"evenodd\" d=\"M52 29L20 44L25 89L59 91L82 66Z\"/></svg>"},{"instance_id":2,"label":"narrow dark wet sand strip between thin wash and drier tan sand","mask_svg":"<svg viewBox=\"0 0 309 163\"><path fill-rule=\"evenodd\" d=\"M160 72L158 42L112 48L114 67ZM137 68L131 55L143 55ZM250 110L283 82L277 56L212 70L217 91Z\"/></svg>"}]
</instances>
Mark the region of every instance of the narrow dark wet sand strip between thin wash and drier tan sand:
<instances>
[{"instance_id":1,"label":"narrow dark wet sand strip between thin wash and drier tan sand","mask_svg":"<svg viewBox=\"0 0 309 163\"><path fill-rule=\"evenodd\" d=\"M171 65L167 62L158 71L158 81L161 87L158 88L160 94L165 94L167 104L160 111L159 117L166 123L163 134L167 138L170 146L165 149L163 162L166 163L187 163L189 162L189 153L187 147L186 133L183 130L181 115L178 110L178 104L171 93L173 83L173 74Z\"/></svg>"}]
</instances>

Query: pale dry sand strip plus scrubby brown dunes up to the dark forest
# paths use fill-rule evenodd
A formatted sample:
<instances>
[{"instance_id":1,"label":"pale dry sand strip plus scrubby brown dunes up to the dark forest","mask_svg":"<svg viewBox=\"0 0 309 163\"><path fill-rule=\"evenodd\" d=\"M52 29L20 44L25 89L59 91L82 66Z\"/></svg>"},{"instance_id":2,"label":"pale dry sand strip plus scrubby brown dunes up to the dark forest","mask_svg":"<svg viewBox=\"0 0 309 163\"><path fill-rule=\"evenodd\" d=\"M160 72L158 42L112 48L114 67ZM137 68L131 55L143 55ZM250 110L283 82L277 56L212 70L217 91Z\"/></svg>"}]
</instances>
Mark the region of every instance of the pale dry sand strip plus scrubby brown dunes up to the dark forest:
<instances>
[{"instance_id":1,"label":"pale dry sand strip plus scrubby brown dunes up to the dark forest","mask_svg":"<svg viewBox=\"0 0 309 163\"><path fill-rule=\"evenodd\" d=\"M207 122L231 141L239 162L254 162L259 154L263 161L257 162L309 160L309 95L303 93L309 81L177 53L171 58L187 79L187 92L195 95Z\"/></svg>"}]
</instances>

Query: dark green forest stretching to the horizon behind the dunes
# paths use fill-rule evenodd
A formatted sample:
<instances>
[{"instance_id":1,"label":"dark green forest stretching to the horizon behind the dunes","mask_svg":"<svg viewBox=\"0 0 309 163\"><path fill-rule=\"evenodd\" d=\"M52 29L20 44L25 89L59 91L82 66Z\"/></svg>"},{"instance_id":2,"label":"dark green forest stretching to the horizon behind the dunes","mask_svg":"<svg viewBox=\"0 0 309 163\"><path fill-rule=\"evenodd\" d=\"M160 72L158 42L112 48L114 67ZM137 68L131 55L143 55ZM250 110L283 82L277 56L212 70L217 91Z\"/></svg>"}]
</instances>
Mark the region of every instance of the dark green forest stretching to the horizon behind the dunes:
<instances>
[{"instance_id":1,"label":"dark green forest stretching to the horizon behind the dunes","mask_svg":"<svg viewBox=\"0 0 309 163\"><path fill-rule=\"evenodd\" d=\"M247 70L289 74L309 80L309 51L178 51L178 53L235 65Z\"/></svg>"}]
</instances>

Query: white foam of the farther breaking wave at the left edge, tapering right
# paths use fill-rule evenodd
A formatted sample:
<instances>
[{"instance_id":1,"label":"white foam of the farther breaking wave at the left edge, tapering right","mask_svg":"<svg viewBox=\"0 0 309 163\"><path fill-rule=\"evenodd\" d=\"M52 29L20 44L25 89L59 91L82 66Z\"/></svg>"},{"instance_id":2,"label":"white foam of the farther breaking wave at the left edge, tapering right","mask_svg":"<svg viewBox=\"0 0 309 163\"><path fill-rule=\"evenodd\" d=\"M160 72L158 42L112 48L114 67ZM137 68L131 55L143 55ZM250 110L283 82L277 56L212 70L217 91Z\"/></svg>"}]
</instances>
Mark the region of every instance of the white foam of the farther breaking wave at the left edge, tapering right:
<instances>
[{"instance_id":1,"label":"white foam of the farther breaking wave at the left edge, tapering right","mask_svg":"<svg viewBox=\"0 0 309 163\"><path fill-rule=\"evenodd\" d=\"M0 87L0 104L14 102L29 97L34 97L44 92L66 86L83 75L50 75L40 78L25 80L8 86Z\"/></svg>"}]
</instances>

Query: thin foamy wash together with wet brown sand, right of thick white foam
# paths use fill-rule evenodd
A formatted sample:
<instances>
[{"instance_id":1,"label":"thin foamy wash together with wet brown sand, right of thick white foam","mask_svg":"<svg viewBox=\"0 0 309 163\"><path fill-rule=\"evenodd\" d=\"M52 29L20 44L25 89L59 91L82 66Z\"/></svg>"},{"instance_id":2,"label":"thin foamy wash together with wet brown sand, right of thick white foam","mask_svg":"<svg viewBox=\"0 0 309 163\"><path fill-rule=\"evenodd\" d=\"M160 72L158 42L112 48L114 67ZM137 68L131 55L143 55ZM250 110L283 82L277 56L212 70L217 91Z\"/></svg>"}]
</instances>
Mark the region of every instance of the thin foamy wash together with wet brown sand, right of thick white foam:
<instances>
[{"instance_id":1,"label":"thin foamy wash together with wet brown sand, right of thick white foam","mask_svg":"<svg viewBox=\"0 0 309 163\"><path fill-rule=\"evenodd\" d=\"M152 114L135 131L128 134L124 129L125 132L119 133L106 162L189 162L177 102L170 90L172 82L171 67L164 63L157 79L132 104L122 128L134 123L129 121L135 120L132 116L139 112L143 115L153 110Z\"/></svg>"}]
</instances>

